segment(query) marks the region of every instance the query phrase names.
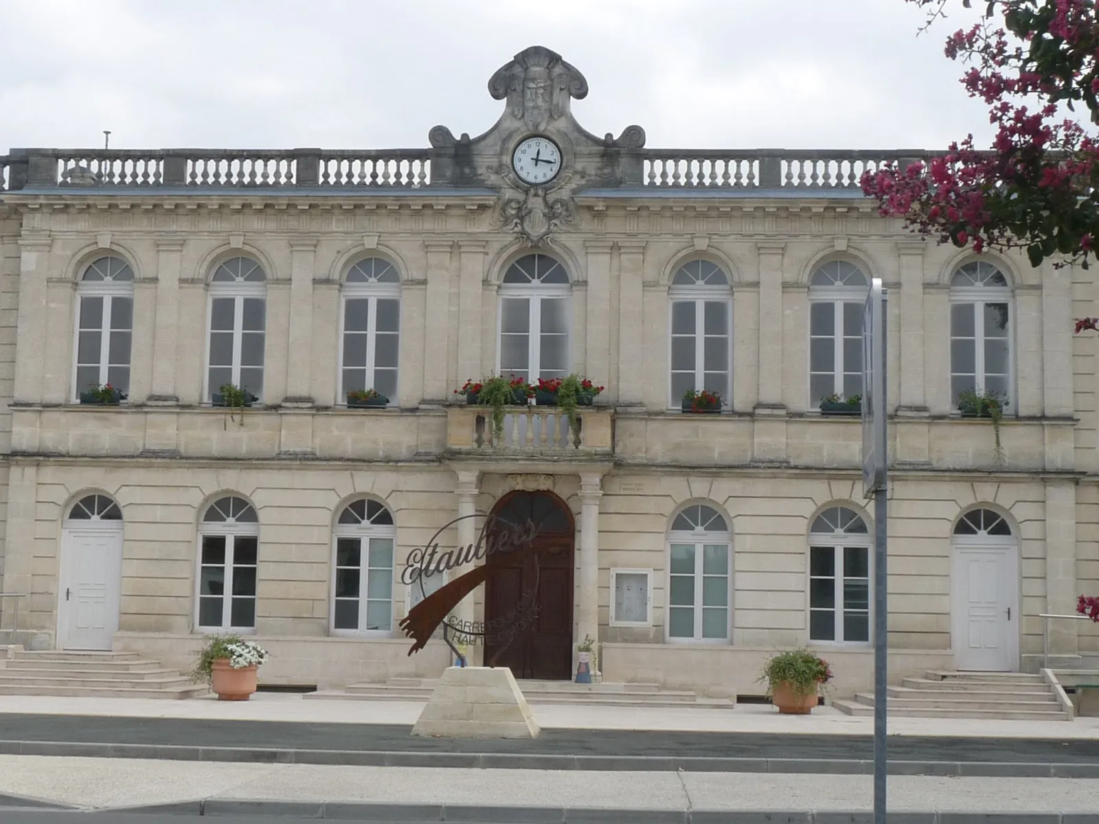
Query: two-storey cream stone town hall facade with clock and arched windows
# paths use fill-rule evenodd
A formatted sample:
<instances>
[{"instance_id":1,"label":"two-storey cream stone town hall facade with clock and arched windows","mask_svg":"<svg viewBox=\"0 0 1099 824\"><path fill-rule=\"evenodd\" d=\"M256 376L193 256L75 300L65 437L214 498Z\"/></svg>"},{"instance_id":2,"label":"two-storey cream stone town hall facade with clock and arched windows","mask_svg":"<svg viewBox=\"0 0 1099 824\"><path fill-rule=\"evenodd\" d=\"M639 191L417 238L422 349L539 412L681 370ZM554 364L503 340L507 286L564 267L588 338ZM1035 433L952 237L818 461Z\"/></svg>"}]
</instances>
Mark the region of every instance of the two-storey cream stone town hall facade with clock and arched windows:
<instances>
[{"instance_id":1,"label":"two-storey cream stone town hall facade with clock and arched windows","mask_svg":"<svg viewBox=\"0 0 1099 824\"><path fill-rule=\"evenodd\" d=\"M1040 666L1040 615L1099 581L1090 274L878 216L859 175L913 153L599 137L541 47L489 91L491 129L423 149L0 158L0 590L27 593L0 630L186 666L233 628L273 683L436 676L446 647L410 657L398 628L403 559L459 515L541 506L565 560L533 643L566 652L526 675L568 677L590 636L604 680L758 694L763 660L808 644L864 689L861 427L821 399L861 392L880 277L891 677ZM497 438L455 390L501 371L606 390L575 441L550 407ZM121 403L80 402L108 383ZM223 383L256 402L211 405ZM388 405L348 407L369 388ZM1006 400L998 426L966 391ZM1090 625L1051 627L1058 662L1099 655Z\"/></svg>"}]
</instances>

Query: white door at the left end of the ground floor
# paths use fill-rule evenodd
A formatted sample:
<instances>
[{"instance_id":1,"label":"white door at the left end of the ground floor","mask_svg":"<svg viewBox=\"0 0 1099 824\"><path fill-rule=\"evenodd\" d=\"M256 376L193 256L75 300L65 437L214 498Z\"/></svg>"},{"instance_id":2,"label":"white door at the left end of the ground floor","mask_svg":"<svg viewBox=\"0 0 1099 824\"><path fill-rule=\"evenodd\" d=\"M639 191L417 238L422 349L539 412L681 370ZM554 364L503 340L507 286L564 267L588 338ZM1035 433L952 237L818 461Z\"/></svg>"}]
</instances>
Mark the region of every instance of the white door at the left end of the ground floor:
<instances>
[{"instance_id":1,"label":"white door at the left end of the ground floor","mask_svg":"<svg viewBox=\"0 0 1099 824\"><path fill-rule=\"evenodd\" d=\"M119 628L122 587L122 530L66 528L62 536L62 576L57 646L110 649Z\"/></svg>"}]
</instances>

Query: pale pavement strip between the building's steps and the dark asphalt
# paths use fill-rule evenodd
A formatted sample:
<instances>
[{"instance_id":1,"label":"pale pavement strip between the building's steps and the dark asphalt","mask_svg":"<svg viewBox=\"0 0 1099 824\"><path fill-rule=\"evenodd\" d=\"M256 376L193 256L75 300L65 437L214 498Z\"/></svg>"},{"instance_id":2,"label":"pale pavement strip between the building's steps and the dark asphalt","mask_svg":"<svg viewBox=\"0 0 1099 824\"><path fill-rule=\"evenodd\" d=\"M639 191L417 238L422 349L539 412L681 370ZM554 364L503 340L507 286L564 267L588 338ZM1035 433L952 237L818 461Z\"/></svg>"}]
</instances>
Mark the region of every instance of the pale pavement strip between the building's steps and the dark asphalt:
<instances>
[{"instance_id":1,"label":"pale pavement strip between the building's steps and the dark asphalt","mask_svg":"<svg viewBox=\"0 0 1099 824\"><path fill-rule=\"evenodd\" d=\"M274 692L257 692L251 701L218 701L212 697L166 701L0 695L0 725L5 713L43 713L411 726L422 710L423 703L420 702L307 701L300 694ZM768 704L737 704L731 710L703 710L690 706L602 706L577 702L541 704L535 705L533 711L543 730L679 730L807 735L872 735L874 732L873 717L853 717L832 706L819 706L811 715L779 715ZM946 737L1090 739L1099 738L1099 717L1075 721L890 717L889 733Z\"/></svg>"}]
</instances>

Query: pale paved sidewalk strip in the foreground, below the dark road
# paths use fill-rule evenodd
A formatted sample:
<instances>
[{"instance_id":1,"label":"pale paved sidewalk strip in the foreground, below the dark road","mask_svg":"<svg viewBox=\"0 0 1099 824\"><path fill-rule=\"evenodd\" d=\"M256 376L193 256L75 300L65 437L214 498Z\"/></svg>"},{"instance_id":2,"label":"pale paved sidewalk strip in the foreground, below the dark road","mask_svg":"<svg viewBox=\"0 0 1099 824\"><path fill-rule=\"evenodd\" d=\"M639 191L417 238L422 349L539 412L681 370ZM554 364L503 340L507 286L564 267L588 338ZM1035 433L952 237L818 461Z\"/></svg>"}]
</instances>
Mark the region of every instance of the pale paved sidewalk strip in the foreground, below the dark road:
<instances>
[{"instance_id":1,"label":"pale paved sidewalk strip in the foreground, below the dark road","mask_svg":"<svg viewBox=\"0 0 1099 824\"><path fill-rule=\"evenodd\" d=\"M866 811L873 804L869 776L436 770L35 756L0 756L0 793L81 809L189 802L177 811L191 814L198 812L199 799L213 800L207 802L207 814L233 809L230 801L298 802L314 810L322 802L370 802L679 812ZM889 780L889 808L1094 813L1099 810L1099 780L899 776ZM284 814L302 811L286 804L281 809Z\"/></svg>"}]
</instances>

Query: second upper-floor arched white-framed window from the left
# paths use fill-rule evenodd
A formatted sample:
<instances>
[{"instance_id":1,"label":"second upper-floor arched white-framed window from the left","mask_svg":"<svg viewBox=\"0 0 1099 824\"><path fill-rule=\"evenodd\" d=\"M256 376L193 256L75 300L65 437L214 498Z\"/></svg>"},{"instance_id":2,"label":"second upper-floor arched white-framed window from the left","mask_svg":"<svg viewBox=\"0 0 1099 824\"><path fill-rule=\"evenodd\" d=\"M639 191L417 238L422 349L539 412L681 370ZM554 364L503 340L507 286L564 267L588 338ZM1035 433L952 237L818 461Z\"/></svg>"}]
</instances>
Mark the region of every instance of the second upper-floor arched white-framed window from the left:
<instances>
[{"instance_id":1,"label":"second upper-floor arched white-framed window from the left","mask_svg":"<svg viewBox=\"0 0 1099 824\"><path fill-rule=\"evenodd\" d=\"M232 383L257 398L264 392L267 276L255 260L233 257L210 279L206 397Z\"/></svg>"}]
</instances>

